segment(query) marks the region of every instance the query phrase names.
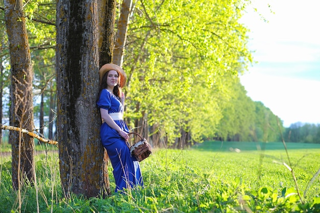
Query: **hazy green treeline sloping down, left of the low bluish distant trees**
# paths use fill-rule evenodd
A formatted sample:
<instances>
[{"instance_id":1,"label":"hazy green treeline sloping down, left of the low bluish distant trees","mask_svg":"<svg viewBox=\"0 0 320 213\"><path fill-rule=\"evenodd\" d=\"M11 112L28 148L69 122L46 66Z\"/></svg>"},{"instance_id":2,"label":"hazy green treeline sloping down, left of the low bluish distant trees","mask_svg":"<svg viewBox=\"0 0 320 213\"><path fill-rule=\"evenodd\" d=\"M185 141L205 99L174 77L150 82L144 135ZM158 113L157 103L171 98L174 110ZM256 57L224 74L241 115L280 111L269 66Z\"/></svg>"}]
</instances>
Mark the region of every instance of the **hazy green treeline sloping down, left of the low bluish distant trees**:
<instances>
[{"instance_id":1,"label":"hazy green treeline sloping down, left of the low bluish distant trees","mask_svg":"<svg viewBox=\"0 0 320 213\"><path fill-rule=\"evenodd\" d=\"M250 99L238 80L233 89L231 100L222 111L217 134L213 139L281 141L280 131L285 130L281 119L265 107L262 102L254 102Z\"/></svg>"}]
</instances>

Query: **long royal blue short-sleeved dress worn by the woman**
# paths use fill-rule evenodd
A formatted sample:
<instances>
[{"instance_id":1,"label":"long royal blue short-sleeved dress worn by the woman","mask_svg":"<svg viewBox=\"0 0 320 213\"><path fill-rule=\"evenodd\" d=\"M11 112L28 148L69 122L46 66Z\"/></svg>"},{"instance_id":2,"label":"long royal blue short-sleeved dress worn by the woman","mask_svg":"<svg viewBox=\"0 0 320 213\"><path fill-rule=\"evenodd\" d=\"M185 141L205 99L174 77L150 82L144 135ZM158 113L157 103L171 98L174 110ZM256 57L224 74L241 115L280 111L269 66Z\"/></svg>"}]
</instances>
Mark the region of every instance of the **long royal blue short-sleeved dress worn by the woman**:
<instances>
[{"instance_id":1,"label":"long royal blue short-sleeved dress worn by the woman","mask_svg":"<svg viewBox=\"0 0 320 213\"><path fill-rule=\"evenodd\" d=\"M97 102L98 108L108 110L108 113L122 112L123 106L118 98L110 93L107 89L103 89ZM128 127L123 120L116 120L116 124L125 132L129 133ZM143 185L139 162L130 153L126 141L119 133L103 123L100 128L101 143L107 150L110 158L113 176L116 181L116 190L133 187L135 185Z\"/></svg>"}]
</instances>

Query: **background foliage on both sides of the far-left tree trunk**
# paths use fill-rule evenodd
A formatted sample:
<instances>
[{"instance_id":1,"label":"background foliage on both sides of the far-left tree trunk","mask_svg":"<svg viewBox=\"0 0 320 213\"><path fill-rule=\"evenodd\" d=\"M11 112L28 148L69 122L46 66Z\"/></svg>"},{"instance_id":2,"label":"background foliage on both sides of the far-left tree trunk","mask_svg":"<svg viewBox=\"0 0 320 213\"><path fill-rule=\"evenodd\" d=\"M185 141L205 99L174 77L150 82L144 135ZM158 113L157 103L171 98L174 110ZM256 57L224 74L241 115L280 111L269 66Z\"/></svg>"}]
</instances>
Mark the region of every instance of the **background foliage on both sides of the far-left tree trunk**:
<instances>
[{"instance_id":1,"label":"background foliage on both sides of the far-left tree trunk","mask_svg":"<svg viewBox=\"0 0 320 213\"><path fill-rule=\"evenodd\" d=\"M27 30L31 57L33 61L33 88L34 88L34 114L37 117L39 113L39 96L44 93L44 115L49 115L53 106L50 106L50 96L56 93L55 85L55 19L56 19L56 1L53 0L36 0L27 1L24 7L27 16ZM4 12L0 13L4 15ZM7 35L5 29L4 18L0 18L3 25L0 25L0 62L4 64L5 72L2 76L4 80L4 114L7 117L9 109L6 103L9 103L9 87L10 87L10 62ZM0 34L1 34L0 33ZM7 124L8 125L8 124ZM36 124L37 126L38 124Z\"/></svg>"}]
</instances>

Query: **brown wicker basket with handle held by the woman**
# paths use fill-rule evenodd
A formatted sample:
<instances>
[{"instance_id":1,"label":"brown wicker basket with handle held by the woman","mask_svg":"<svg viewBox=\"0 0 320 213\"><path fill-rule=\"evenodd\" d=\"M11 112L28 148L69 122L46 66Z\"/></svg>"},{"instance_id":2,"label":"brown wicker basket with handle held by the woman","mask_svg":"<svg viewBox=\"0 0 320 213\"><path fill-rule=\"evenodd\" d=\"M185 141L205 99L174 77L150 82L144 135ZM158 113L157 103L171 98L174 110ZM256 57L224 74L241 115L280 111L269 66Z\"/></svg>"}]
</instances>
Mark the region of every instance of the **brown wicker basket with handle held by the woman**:
<instances>
[{"instance_id":1,"label":"brown wicker basket with handle held by the woman","mask_svg":"<svg viewBox=\"0 0 320 213\"><path fill-rule=\"evenodd\" d=\"M142 160L146 159L147 157L149 157L150 154L152 154L151 152L151 146L150 144L148 144L146 138L141 137L140 134L135 133L135 132L131 132L130 134L135 134L138 135L141 140L139 140L137 143L133 144L131 147L129 146L129 144L127 143L129 149L130 149L130 153L139 161L141 162Z\"/></svg>"}]
</instances>

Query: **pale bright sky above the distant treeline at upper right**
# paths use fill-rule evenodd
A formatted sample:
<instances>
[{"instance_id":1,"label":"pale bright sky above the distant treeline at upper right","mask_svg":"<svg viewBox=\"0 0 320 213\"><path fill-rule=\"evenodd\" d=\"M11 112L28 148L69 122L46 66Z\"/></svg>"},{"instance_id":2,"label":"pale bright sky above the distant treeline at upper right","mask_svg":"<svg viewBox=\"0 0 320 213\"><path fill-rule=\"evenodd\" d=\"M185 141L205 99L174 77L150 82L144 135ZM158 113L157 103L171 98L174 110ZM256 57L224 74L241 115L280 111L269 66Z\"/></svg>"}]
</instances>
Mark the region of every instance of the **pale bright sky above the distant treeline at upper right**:
<instances>
[{"instance_id":1,"label":"pale bright sky above the distant treeline at upper right","mask_svg":"<svg viewBox=\"0 0 320 213\"><path fill-rule=\"evenodd\" d=\"M241 19L257 63L240 81L285 127L320 124L319 7L320 0L256 0Z\"/></svg>"}]
</instances>

